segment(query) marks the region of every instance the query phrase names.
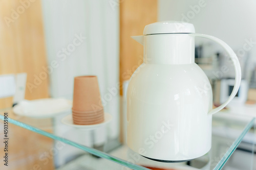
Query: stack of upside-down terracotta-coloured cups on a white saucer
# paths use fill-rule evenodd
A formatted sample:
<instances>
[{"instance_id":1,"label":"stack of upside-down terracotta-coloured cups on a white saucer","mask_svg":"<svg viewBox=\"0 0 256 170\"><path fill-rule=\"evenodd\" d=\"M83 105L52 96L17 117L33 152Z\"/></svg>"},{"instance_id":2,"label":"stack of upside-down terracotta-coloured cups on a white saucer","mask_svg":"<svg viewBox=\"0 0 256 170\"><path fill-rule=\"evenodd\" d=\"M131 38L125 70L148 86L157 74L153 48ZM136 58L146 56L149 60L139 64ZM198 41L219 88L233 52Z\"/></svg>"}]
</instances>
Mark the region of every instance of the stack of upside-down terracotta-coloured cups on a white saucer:
<instances>
[{"instance_id":1,"label":"stack of upside-down terracotta-coloured cups on a white saucer","mask_svg":"<svg viewBox=\"0 0 256 170\"><path fill-rule=\"evenodd\" d=\"M76 125L94 125L104 121L96 76L75 77L72 117Z\"/></svg>"}]
</instances>

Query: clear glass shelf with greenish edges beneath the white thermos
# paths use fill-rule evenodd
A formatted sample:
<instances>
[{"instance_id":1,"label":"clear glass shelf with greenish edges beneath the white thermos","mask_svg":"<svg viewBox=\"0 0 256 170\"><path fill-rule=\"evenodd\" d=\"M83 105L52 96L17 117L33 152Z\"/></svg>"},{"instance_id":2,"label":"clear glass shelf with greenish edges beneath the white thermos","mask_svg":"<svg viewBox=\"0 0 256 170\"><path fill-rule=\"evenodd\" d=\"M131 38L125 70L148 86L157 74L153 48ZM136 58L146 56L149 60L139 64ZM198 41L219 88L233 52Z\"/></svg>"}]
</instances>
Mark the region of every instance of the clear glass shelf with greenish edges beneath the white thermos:
<instances>
[{"instance_id":1,"label":"clear glass shelf with greenish edges beneath the white thermos","mask_svg":"<svg viewBox=\"0 0 256 170\"><path fill-rule=\"evenodd\" d=\"M4 124L3 114L4 112L1 112L0 127L3 127ZM35 159L37 162L37 164L34 164L33 166L38 165L38 167L41 169L170 170L222 169L225 164L227 165L229 161L232 161L232 159L230 159L232 157L231 155L238 148L239 150L246 150L246 153L251 155L251 159L246 159L246 162L243 160L243 162L249 164L250 167L253 166L255 141L255 118L253 117L245 117L221 112L215 114L212 118L212 147L206 155L188 162L163 163L146 159L139 154L134 153L127 147L126 144L119 143L117 139L109 139L108 142L104 143L104 145L101 147L86 147L86 145L84 145L81 140L77 140L78 138L76 137L69 138L57 134L56 129L63 127L63 125L56 123L56 121L60 122L60 117L67 114L68 113L63 113L58 115L57 118L30 118L17 116L13 114L12 111L8 112L10 152L12 151L11 147L15 147L11 145L11 143L14 143L14 141L20 141L27 142L28 144L29 139L31 138L31 140L33 139L34 143L32 142L33 144L31 144L30 149L31 152L32 150L35 152L33 159ZM80 134L78 137L83 137L82 134L84 131L75 128L67 129L69 129L70 133L81 131L78 133ZM0 129L0 131L0 137L4 139L4 133L2 132L3 130ZM24 138L20 133L28 134L29 138ZM49 139L53 140L49 141ZM241 144L243 144L243 147L240 147ZM27 150L27 148L24 148L24 150ZM69 151L69 154L66 154L65 156L66 151ZM15 157L14 154L19 154L17 153L18 151L15 152L16 153L10 153L10 159ZM19 152L23 151L20 150ZM2 151L0 154L1 153ZM2 157L2 155L0 156ZM11 166L13 168L9 169L17 168L14 161L10 162L10 167ZM2 169L1 167L2 164L0 165L0 169Z\"/></svg>"}]
</instances>

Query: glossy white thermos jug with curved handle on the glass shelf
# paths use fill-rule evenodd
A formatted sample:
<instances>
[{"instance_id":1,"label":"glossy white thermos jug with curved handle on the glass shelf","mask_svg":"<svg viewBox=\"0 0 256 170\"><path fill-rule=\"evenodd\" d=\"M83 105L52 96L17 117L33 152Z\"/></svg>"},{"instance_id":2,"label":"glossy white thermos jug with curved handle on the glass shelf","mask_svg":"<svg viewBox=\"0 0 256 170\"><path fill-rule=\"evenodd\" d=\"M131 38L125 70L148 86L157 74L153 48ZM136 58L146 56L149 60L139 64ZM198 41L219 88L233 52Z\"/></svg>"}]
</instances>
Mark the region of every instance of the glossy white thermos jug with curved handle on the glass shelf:
<instances>
[{"instance_id":1,"label":"glossy white thermos jug with curved handle on the glass shelf","mask_svg":"<svg viewBox=\"0 0 256 170\"><path fill-rule=\"evenodd\" d=\"M172 22L168 21L166 28L163 22L153 23L145 27L146 31L152 28L152 35L146 35L144 30L145 36L133 37L144 44L144 63L134 72L127 89L127 145L148 158L182 161L195 159L210 150L211 115L224 108L236 95L241 68L232 49L216 37L157 34L160 27L169 33L175 32L176 28L169 27ZM191 30L190 24L180 24ZM212 109L208 78L194 62L195 36L222 45L234 65L233 91L216 109Z\"/></svg>"}]
</instances>

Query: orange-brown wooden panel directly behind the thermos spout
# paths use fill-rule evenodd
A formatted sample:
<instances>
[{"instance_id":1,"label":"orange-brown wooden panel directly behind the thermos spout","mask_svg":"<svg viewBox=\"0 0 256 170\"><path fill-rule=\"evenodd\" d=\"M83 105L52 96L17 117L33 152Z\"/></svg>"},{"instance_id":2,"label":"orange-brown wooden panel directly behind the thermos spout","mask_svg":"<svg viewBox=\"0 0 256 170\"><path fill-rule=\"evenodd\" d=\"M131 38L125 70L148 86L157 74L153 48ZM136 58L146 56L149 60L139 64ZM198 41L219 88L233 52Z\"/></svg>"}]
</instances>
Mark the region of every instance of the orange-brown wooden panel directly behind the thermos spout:
<instances>
[{"instance_id":1,"label":"orange-brown wooden panel directly behind the thermos spout","mask_svg":"<svg viewBox=\"0 0 256 170\"><path fill-rule=\"evenodd\" d=\"M131 36L142 35L144 27L157 22L157 0L120 1L120 82L129 80L143 61L143 46ZM122 94L122 90L120 91Z\"/></svg>"}]
</instances>

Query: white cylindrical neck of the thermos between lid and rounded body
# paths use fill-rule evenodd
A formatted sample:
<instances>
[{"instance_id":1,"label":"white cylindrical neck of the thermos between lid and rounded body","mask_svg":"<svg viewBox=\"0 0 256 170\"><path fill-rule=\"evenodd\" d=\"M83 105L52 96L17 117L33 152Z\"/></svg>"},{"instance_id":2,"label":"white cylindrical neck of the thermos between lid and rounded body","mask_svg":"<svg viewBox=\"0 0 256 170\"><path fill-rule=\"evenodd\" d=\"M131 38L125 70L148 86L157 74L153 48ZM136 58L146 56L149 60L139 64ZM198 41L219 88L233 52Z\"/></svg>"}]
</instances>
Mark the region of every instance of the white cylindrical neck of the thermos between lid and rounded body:
<instances>
[{"instance_id":1,"label":"white cylindrical neck of the thermos between lid and rounded body","mask_svg":"<svg viewBox=\"0 0 256 170\"><path fill-rule=\"evenodd\" d=\"M195 38L190 34L154 34L144 36L145 63L190 64L195 62L194 56Z\"/></svg>"}]
</instances>

